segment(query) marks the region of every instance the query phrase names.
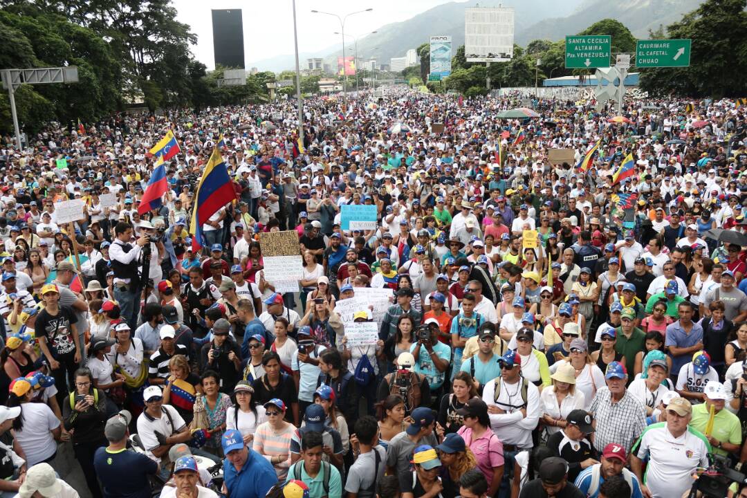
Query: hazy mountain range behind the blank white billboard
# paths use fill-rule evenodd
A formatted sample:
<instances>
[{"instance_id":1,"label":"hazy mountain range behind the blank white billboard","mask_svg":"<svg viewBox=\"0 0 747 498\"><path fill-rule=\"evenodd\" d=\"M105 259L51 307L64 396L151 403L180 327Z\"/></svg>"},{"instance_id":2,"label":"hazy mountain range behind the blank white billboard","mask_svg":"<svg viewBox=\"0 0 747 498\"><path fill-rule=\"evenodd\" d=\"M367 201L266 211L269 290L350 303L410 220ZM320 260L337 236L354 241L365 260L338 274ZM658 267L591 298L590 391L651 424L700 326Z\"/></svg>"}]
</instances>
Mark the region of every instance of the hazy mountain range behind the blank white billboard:
<instances>
[{"instance_id":1,"label":"hazy mountain range behind the blank white billboard","mask_svg":"<svg viewBox=\"0 0 747 498\"><path fill-rule=\"evenodd\" d=\"M562 40L567 34L577 34L601 19L617 19L632 31L633 36L648 37L649 29L657 29L681 19L703 0L503 0L503 7L514 7L514 43L526 46L532 40ZM388 64L391 57L403 57L408 49L417 49L433 35L450 35L452 50L465 43L465 7L486 7L485 1L452 1L433 7L402 22L392 22L376 33L358 40L359 57L376 57ZM352 45L352 44L351 44ZM347 55L354 55L346 46ZM323 57L325 63L336 66L341 47L332 46L314 53L302 53L300 60ZM294 67L294 56L280 55L249 64L261 71L280 72Z\"/></svg>"}]
</instances>

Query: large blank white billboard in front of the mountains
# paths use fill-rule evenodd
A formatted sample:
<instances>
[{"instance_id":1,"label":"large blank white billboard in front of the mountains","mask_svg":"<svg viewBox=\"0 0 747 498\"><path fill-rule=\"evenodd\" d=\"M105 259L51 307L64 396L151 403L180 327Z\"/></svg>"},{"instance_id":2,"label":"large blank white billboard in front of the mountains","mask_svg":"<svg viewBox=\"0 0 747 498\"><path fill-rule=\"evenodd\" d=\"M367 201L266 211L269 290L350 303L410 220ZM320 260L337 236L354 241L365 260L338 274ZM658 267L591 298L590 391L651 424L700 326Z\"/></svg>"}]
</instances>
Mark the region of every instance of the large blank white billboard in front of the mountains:
<instances>
[{"instance_id":1,"label":"large blank white billboard in front of the mountains","mask_svg":"<svg viewBox=\"0 0 747 498\"><path fill-rule=\"evenodd\" d=\"M469 62L511 60L513 33L513 8L465 8L465 57Z\"/></svg>"}]
</instances>

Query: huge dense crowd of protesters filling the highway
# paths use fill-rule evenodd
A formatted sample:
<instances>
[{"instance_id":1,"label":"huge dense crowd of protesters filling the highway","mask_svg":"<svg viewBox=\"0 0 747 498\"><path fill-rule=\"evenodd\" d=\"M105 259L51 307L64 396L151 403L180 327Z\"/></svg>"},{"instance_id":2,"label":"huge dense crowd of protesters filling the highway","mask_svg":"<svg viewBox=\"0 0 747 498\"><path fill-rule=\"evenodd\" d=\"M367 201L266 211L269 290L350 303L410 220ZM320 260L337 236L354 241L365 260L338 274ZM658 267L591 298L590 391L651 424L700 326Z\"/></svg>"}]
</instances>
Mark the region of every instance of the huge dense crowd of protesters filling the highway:
<instances>
[{"instance_id":1,"label":"huge dense crowd of protesters filling the highway","mask_svg":"<svg viewBox=\"0 0 747 498\"><path fill-rule=\"evenodd\" d=\"M747 108L496 117L523 97L314 98L303 140L292 102L2 137L1 498L680 498L714 455L738 469ZM199 235L215 150L235 200ZM365 287L388 305L343 318ZM349 346L356 323L378 337Z\"/></svg>"}]
</instances>

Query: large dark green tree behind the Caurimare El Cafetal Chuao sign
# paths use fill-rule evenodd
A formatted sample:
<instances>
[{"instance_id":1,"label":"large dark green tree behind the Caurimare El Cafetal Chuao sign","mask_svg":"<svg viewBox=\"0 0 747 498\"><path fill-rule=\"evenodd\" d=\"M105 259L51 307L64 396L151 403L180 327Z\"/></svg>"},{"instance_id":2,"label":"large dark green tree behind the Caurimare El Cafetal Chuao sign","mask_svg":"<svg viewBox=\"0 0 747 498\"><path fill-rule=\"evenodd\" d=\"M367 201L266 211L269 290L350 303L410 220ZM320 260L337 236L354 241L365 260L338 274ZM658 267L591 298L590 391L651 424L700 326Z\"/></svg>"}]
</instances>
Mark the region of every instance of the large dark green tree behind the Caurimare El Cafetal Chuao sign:
<instances>
[{"instance_id":1,"label":"large dark green tree behind the Caurimare El Cafetal Chuao sign","mask_svg":"<svg viewBox=\"0 0 747 498\"><path fill-rule=\"evenodd\" d=\"M641 87L655 95L740 97L747 93L747 0L707 0L666 29L692 39L690 66L643 69Z\"/></svg>"}]
</instances>

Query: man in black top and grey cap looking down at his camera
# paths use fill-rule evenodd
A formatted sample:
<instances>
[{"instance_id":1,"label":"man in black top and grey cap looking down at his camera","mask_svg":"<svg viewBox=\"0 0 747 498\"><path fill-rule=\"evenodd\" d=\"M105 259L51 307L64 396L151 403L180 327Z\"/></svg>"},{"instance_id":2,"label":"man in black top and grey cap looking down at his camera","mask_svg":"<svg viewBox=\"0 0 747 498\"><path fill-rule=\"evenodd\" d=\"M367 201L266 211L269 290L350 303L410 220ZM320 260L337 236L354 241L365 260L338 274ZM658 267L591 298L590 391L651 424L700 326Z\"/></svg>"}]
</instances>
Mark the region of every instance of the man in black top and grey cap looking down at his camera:
<instances>
[{"instance_id":1,"label":"man in black top and grey cap looking down at his camera","mask_svg":"<svg viewBox=\"0 0 747 498\"><path fill-rule=\"evenodd\" d=\"M220 318L213 324L213 340L202 346L200 370L215 370L220 374L220 392L232 393L241 372L241 349L229 337L231 324Z\"/></svg>"}]
</instances>

